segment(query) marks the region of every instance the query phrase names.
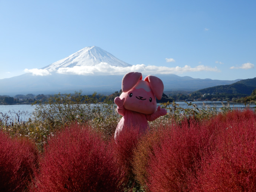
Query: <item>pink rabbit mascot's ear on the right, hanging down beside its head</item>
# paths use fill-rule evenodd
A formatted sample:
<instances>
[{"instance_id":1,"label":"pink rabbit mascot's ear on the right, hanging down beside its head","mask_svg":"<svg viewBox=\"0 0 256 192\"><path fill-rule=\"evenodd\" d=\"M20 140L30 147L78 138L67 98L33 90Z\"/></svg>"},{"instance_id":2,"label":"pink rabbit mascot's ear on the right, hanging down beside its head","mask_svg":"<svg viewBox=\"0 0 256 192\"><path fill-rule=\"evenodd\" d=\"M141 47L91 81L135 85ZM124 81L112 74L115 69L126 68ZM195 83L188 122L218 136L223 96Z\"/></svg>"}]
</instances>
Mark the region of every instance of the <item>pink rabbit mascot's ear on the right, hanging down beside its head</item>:
<instances>
[{"instance_id":1,"label":"pink rabbit mascot's ear on the right, hanging down beside its head","mask_svg":"<svg viewBox=\"0 0 256 192\"><path fill-rule=\"evenodd\" d=\"M148 75L145 77L144 81L149 82L152 92L155 94L158 100L162 98L164 92L164 83L158 77Z\"/></svg>"}]
</instances>

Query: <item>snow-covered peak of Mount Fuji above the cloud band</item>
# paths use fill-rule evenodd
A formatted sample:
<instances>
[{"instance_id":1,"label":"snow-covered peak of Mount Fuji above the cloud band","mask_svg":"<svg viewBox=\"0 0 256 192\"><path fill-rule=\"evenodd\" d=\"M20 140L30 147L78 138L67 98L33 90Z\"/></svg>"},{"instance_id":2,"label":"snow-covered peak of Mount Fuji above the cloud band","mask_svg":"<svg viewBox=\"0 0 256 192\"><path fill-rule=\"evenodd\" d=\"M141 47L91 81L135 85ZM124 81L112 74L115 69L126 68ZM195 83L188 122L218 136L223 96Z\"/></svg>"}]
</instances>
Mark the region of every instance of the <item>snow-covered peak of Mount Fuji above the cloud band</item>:
<instances>
[{"instance_id":1,"label":"snow-covered peak of Mount Fuji above the cloud band","mask_svg":"<svg viewBox=\"0 0 256 192\"><path fill-rule=\"evenodd\" d=\"M100 63L106 63L115 67L132 66L119 60L118 58L101 49L100 47L92 46L85 47L64 59L61 59L55 63L43 67L42 69L46 69L48 71L56 71L59 68L72 68L75 66L95 66Z\"/></svg>"}]
</instances>

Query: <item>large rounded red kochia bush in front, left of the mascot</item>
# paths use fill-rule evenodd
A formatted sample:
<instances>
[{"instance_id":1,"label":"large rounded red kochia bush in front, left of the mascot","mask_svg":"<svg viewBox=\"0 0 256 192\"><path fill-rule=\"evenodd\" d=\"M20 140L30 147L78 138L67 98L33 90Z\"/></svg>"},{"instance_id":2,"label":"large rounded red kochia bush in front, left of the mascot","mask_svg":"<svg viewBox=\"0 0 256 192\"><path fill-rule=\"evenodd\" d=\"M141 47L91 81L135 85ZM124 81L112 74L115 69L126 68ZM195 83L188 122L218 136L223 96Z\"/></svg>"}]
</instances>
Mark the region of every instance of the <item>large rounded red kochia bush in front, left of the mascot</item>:
<instances>
[{"instance_id":1,"label":"large rounded red kochia bush in front, left of the mascot","mask_svg":"<svg viewBox=\"0 0 256 192\"><path fill-rule=\"evenodd\" d=\"M100 133L72 125L45 146L30 191L120 191L122 174Z\"/></svg>"}]
</instances>

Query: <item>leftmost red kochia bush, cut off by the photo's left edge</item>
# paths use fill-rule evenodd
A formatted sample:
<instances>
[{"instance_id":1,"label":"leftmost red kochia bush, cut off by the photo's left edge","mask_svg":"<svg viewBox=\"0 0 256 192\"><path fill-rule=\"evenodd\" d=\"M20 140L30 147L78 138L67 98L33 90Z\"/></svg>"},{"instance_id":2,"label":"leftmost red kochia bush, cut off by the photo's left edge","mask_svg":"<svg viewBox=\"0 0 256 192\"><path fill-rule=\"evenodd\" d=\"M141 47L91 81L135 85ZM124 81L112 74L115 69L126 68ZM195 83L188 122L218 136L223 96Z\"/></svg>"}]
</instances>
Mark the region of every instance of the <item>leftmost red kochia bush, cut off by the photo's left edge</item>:
<instances>
[{"instance_id":1,"label":"leftmost red kochia bush, cut off by the photo's left edge","mask_svg":"<svg viewBox=\"0 0 256 192\"><path fill-rule=\"evenodd\" d=\"M38 151L27 138L0 131L0 191L24 191L34 176Z\"/></svg>"}]
</instances>

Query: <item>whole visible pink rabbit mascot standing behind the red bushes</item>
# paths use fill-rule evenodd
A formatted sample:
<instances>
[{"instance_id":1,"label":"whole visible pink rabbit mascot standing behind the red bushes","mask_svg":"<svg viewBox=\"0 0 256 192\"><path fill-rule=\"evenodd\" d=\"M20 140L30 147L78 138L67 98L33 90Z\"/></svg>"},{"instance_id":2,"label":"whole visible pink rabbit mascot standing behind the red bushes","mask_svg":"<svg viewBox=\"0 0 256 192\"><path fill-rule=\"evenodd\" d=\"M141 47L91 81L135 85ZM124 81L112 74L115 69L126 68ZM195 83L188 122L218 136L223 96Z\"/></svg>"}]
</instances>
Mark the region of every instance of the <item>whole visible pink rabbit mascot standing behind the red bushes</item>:
<instances>
[{"instance_id":1,"label":"whole visible pink rabbit mascot standing behind the red bushes","mask_svg":"<svg viewBox=\"0 0 256 192\"><path fill-rule=\"evenodd\" d=\"M142 80L139 72L127 73L122 80L120 97L115 98L116 111L122 115L115 130L115 138L123 129L131 126L139 128L140 132L149 129L148 121L153 121L166 115L166 109L157 107L157 99L161 99L164 85L161 79L155 76L147 76Z\"/></svg>"}]
</instances>

